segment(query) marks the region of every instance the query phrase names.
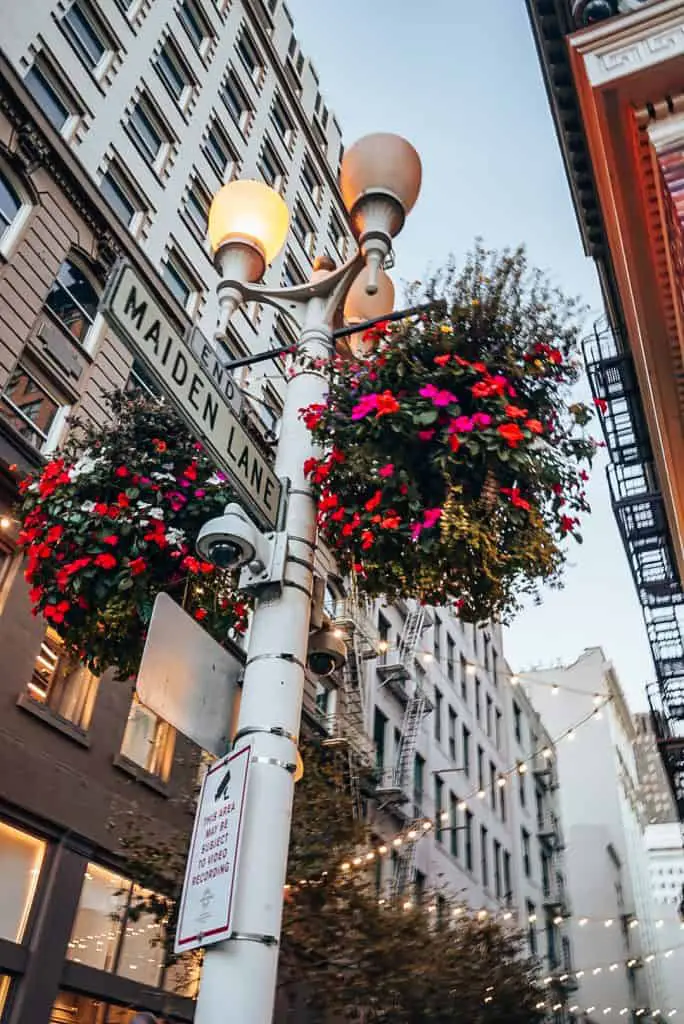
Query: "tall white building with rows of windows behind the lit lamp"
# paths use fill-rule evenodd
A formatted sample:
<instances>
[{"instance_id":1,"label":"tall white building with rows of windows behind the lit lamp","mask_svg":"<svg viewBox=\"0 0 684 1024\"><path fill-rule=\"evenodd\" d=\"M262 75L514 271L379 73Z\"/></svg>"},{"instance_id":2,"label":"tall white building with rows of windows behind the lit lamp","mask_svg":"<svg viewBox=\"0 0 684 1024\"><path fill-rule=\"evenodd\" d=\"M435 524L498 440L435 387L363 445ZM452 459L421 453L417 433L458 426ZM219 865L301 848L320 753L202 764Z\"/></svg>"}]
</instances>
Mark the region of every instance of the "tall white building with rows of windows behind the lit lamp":
<instances>
[{"instance_id":1,"label":"tall white building with rows of windows behind the lit lamp","mask_svg":"<svg viewBox=\"0 0 684 1024\"><path fill-rule=\"evenodd\" d=\"M206 226L224 182L265 180L291 210L270 282L308 280L316 254L344 258L351 236L337 185L341 131L282 0L26 0L4 19L2 46L209 337L217 275ZM292 340L270 307L252 304L236 315L225 356ZM241 378L275 432L279 367Z\"/></svg>"}]
</instances>

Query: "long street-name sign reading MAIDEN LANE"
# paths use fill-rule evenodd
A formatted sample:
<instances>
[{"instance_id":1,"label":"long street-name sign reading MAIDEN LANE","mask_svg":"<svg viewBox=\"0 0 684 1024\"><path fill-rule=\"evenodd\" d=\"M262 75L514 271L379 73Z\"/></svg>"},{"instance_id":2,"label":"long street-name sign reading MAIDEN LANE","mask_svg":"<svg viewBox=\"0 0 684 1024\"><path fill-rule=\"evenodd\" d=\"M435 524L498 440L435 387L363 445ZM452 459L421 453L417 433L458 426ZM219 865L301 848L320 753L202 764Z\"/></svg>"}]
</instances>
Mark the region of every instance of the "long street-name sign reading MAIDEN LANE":
<instances>
[{"instance_id":1,"label":"long street-name sign reading MAIDEN LANE","mask_svg":"<svg viewBox=\"0 0 684 1024\"><path fill-rule=\"evenodd\" d=\"M281 483L221 391L129 264L104 296L103 315L121 332L158 385L204 442L248 512L275 529Z\"/></svg>"}]
</instances>

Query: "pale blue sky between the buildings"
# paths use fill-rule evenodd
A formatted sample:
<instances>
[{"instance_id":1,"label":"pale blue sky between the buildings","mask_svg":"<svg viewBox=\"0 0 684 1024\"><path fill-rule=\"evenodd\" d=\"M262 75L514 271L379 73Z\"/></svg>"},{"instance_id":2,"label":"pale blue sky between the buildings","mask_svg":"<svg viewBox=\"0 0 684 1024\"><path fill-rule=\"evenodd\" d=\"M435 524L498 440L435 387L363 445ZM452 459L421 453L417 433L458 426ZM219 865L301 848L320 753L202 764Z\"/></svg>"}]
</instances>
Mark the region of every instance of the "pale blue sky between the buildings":
<instances>
[{"instance_id":1,"label":"pale blue sky between the buildings","mask_svg":"<svg viewBox=\"0 0 684 1024\"><path fill-rule=\"evenodd\" d=\"M535 264L601 313L584 254L524 0L288 0L302 51L345 143L393 131L423 162L420 199L396 240L395 284L450 253L523 242ZM399 289L397 289L399 291ZM634 711L653 667L610 509L605 461L589 488L584 545L569 549L563 591L544 593L507 630L515 671L568 663L601 646Z\"/></svg>"}]
</instances>

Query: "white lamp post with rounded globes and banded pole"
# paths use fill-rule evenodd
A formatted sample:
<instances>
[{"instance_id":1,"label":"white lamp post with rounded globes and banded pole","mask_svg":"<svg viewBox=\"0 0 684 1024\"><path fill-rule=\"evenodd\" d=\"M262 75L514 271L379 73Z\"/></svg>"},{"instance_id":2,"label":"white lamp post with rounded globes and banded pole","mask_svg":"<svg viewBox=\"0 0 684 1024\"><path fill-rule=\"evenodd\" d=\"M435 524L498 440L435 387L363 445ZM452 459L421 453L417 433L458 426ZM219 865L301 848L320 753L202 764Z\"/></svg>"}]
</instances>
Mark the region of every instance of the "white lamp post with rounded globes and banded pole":
<instances>
[{"instance_id":1,"label":"white lamp post with rounded globes and banded pole","mask_svg":"<svg viewBox=\"0 0 684 1024\"><path fill-rule=\"evenodd\" d=\"M286 241L288 211L277 194L260 182L236 181L211 207L209 238L221 275L219 333L240 305L258 301L286 316L299 342L275 454L275 472L289 481L287 565L280 592L264 592L256 603L236 737L249 738L252 767L233 932L206 950L196 1024L272 1020L315 553L316 506L303 466L317 449L300 411L325 400L333 322L345 296L351 319L389 311L377 304L389 295L382 263L420 182L418 154L399 136L369 135L348 150L340 184L358 250L337 269L316 264L311 281L295 288L258 284ZM364 287L354 303L359 273Z\"/></svg>"}]
</instances>

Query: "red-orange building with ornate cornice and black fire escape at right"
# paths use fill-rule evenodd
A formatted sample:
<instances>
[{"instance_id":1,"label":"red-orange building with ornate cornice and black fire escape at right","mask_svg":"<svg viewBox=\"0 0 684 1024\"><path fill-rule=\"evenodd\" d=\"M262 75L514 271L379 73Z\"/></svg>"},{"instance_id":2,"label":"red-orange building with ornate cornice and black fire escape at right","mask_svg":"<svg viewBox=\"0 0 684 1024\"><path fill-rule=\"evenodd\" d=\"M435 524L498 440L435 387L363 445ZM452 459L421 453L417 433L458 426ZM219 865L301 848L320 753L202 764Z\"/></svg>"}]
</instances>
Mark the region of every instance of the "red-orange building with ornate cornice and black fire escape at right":
<instances>
[{"instance_id":1,"label":"red-orange building with ornate cornice and black fire escape at right","mask_svg":"<svg viewBox=\"0 0 684 1024\"><path fill-rule=\"evenodd\" d=\"M527 0L586 252L586 343L618 527L655 665L649 699L684 817L684 431L679 0Z\"/></svg>"}]
</instances>

